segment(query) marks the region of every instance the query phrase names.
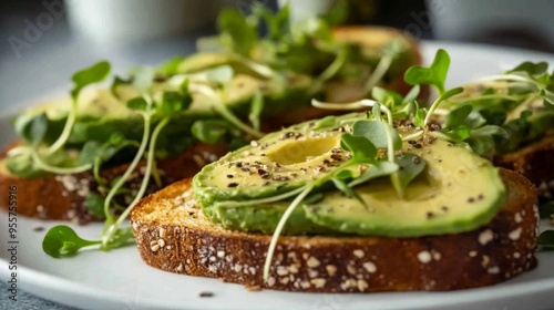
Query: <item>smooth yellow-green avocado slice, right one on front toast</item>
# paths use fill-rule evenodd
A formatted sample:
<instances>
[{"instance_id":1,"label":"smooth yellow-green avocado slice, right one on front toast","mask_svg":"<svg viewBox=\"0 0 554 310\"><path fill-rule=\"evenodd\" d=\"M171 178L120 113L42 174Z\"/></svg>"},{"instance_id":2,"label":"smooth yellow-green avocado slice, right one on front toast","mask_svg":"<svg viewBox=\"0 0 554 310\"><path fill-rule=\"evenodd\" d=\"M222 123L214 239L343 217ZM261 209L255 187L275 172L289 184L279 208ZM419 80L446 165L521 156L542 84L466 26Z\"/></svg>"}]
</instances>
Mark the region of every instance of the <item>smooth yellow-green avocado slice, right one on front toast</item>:
<instances>
[{"instance_id":1,"label":"smooth yellow-green avocado slice, right one on front toast","mask_svg":"<svg viewBox=\"0 0 554 310\"><path fill-rule=\"evenodd\" d=\"M437 140L409 152L427 166L403 199L389 179L380 178L355 188L367 207L334 192L317 204L304 205L307 217L343 232L419 237L475 229L504 203L497 168L464 146Z\"/></svg>"}]
</instances>

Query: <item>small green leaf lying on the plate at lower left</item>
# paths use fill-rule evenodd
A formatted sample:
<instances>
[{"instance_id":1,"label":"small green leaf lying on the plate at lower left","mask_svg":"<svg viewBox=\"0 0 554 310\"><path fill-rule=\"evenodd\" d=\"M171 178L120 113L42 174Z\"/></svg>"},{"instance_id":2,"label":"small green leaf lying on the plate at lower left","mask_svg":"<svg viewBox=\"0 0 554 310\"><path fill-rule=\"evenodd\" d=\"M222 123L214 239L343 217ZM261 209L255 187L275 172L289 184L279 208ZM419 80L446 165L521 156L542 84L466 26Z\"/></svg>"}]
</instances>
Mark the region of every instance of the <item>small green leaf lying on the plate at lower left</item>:
<instances>
[{"instance_id":1,"label":"small green leaf lying on the plate at lower left","mask_svg":"<svg viewBox=\"0 0 554 310\"><path fill-rule=\"evenodd\" d=\"M71 257L89 246L99 245L102 241L90 241L80 238L69 226L59 225L50 228L42 240L42 250L53 258Z\"/></svg>"}]
</instances>

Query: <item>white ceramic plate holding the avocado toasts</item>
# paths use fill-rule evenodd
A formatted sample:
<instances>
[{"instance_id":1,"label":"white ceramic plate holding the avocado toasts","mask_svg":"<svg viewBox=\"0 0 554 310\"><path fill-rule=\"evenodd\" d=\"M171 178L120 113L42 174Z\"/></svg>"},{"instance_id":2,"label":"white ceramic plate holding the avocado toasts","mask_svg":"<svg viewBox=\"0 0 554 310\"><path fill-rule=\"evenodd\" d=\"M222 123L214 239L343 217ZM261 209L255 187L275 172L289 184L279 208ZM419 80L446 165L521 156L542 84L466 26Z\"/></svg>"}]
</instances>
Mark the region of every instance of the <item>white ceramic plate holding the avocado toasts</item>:
<instances>
[{"instance_id":1,"label":"white ceramic plate holding the avocado toasts","mask_svg":"<svg viewBox=\"0 0 554 310\"><path fill-rule=\"evenodd\" d=\"M524 60L554 56L483 45L427 42L427 62L437 49L445 49L452 65L449 84L513 68ZM0 142L10 138L8 120L0 120ZM23 200L23 197L20 197ZM48 199L48 197L44 197ZM44 231L59 223L18 218L18 283L45 299L86 309L552 309L554 308L554 252L538 254L540 265L504 283L452 292L394 292L317 294L264 290L250 292L215 279L163 272L141 261L134 247L111 252L84 251L71 259L53 259L42 252ZM0 276L9 279L8 215L0 211ZM41 232L34 231L43 227ZM96 239L102 226L75 227L83 237ZM393 258L391 258L393 259ZM448 277L448 275L444 275ZM214 296L201 298L209 291ZM2 296L4 296L2 293Z\"/></svg>"}]
</instances>

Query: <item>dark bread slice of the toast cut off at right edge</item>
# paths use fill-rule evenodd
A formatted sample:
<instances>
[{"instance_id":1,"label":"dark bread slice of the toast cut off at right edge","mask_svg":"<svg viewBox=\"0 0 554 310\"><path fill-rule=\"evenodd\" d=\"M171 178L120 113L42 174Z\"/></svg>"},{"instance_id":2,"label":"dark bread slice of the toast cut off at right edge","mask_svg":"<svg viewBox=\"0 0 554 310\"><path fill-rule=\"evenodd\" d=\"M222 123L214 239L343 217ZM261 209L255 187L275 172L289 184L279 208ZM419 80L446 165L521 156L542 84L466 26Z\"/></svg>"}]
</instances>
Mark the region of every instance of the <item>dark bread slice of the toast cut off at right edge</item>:
<instances>
[{"instance_id":1,"label":"dark bread slice of the toast cut off at right edge","mask_svg":"<svg viewBox=\"0 0 554 310\"><path fill-rule=\"evenodd\" d=\"M496 158L495 165L522 174L538 188L538 195L554 197L554 135Z\"/></svg>"}]
</instances>

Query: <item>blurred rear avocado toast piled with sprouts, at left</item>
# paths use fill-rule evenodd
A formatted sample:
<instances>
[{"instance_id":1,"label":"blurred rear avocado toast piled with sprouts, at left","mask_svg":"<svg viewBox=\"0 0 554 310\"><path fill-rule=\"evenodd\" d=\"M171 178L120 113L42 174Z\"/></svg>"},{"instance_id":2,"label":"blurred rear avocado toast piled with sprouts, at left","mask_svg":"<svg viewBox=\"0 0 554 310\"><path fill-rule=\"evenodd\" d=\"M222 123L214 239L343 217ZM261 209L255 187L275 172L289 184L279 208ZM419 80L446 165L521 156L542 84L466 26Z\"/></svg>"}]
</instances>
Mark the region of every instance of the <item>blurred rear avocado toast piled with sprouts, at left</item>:
<instances>
[{"instance_id":1,"label":"blurred rear avocado toast piled with sprouts, at left","mask_svg":"<svg viewBox=\"0 0 554 310\"><path fill-rule=\"evenodd\" d=\"M257 10L259 14L249 19L237 10L222 12L217 40L225 41L236 24L253 31L259 23L269 23L261 16L276 18L263 8ZM339 34L334 39L322 20L318 20L322 28L317 33L296 31L293 35L285 22L287 13L280 11L281 22L275 25L286 30L284 38L255 34L248 50L227 40L209 52L174 59L161 68L141 68L130 78L114 78L109 89L81 94L109 74L110 64L99 62L75 73L71 100L33 107L18 116L19 141L1 153L0 184L17 184L27 190L29 200L20 214L79 223L114 218L132 205L136 194L192 176L261 132L319 116L320 111L311 108L309 100L331 95L327 93L330 83L365 85L373 75L376 84L401 91L398 81L402 81L403 70L420 61L417 44L403 33L376 29L380 38L390 40L371 45L363 43L363 37L372 30L356 29L365 33L358 40L365 44L360 48L350 39L337 39ZM391 70L386 69L379 78L372 69L392 41L393 52L387 54L394 54L389 59ZM276 49L259 52L268 46ZM260 59L260 54L271 56ZM310 56L318 61L308 61ZM309 66L296 66L302 58ZM359 72L352 70L363 71L359 81ZM144 152L137 152L141 145L147 146ZM116 186L124 175L127 179ZM109 195L112 189L115 194ZM113 202L106 199L109 196ZM7 207L8 202L1 205Z\"/></svg>"}]
</instances>

